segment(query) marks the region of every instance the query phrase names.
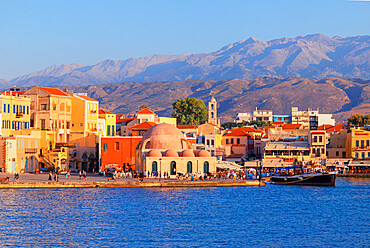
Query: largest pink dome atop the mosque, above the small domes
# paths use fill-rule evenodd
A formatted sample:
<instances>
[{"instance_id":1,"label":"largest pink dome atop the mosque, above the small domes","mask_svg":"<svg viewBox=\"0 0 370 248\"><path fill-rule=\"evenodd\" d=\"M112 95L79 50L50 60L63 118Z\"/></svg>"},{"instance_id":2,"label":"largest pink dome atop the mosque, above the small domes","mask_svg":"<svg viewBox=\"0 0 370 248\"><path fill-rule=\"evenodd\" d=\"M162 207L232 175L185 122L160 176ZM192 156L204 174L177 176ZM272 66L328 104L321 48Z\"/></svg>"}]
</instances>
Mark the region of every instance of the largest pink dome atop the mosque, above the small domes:
<instances>
[{"instance_id":1,"label":"largest pink dome atop the mosque, above the small domes","mask_svg":"<svg viewBox=\"0 0 370 248\"><path fill-rule=\"evenodd\" d=\"M160 123L150 128L143 136L142 142L150 139L144 149L183 150L184 134L175 126Z\"/></svg>"}]
</instances>

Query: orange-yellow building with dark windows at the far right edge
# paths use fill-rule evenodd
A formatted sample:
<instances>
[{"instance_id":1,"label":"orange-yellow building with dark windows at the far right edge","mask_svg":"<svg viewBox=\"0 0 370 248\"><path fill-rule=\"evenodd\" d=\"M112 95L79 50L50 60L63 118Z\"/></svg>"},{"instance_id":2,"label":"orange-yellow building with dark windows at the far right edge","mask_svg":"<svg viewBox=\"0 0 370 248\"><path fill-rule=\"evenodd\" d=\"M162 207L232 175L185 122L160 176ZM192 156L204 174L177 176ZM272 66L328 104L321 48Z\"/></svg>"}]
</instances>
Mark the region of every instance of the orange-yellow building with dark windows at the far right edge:
<instances>
[{"instance_id":1,"label":"orange-yellow building with dark windows at the far right edge","mask_svg":"<svg viewBox=\"0 0 370 248\"><path fill-rule=\"evenodd\" d=\"M347 133L347 158L357 160L370 159L370 131L353 128Z\"/></svg>"}]
</instances>

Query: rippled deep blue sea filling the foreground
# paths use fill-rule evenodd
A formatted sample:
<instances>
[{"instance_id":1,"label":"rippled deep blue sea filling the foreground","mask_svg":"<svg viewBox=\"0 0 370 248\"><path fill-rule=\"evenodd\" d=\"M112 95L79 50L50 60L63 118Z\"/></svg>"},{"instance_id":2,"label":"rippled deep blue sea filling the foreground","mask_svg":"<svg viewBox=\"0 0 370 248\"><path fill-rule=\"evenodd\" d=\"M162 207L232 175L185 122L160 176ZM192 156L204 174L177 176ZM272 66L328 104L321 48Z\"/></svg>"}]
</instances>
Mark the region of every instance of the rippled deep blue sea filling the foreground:
<instances>
[{"instance_id":1,"label":"rippled deep blue sea filling the foreground","mask_svg":"<svg viewBox=\"0 0 370 248\"><path fill-rule=\"evenodd\" d=\"M336 187L0 191L0 244L369 247L370 179Z\"/></svg>"}]
</instances>

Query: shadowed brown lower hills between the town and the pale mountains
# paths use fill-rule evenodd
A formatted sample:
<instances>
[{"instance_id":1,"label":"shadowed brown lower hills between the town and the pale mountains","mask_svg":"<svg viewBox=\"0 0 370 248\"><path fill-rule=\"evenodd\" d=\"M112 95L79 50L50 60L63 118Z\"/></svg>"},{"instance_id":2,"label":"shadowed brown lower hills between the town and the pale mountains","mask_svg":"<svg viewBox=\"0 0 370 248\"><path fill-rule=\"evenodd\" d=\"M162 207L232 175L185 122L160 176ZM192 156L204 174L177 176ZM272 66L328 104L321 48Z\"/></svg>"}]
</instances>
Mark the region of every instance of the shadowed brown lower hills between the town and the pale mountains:
<instances>
[{"instance_id":1,"label":"shadowed brown lower hills between the town and the pale mountains","mask_svg":"<svg viewBox=\"0 0 370 248\"><path fill-rule=\"evenodd\" d=\"M254 80L179 82L124 82L117 84L64 87L69 92L86 92L100 101L101 108L116 113L134 114L146 104L159 115L170 116L178 98L195 97L206 103L215 96L219 116L229 121L238 112L272 109L275 114L289 114L292 106L305 110L319 108L321 113L335 113L337 121L350 113L370 113L370 80L259 78Z\"/></svg>"}]
</instances>

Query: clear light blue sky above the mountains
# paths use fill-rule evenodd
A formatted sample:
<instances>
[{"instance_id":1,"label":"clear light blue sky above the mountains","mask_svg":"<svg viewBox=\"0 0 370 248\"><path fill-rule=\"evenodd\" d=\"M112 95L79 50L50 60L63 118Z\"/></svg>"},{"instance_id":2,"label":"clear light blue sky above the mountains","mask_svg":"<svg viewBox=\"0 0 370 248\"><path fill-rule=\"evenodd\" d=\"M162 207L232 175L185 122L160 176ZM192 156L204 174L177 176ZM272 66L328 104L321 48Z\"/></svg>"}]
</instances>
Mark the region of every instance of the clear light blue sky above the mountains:
<instances>
[{"instance_id":1,"label":"clear light blue sky above the mountains","mask_svg":"<svg viewBox=\"0 0 370 248\"><path fill-rule=\"evenodd\" d=\"M370 1L0 0L0 78L314 33L369 35Z\"/></svg>"}]
</instances>

